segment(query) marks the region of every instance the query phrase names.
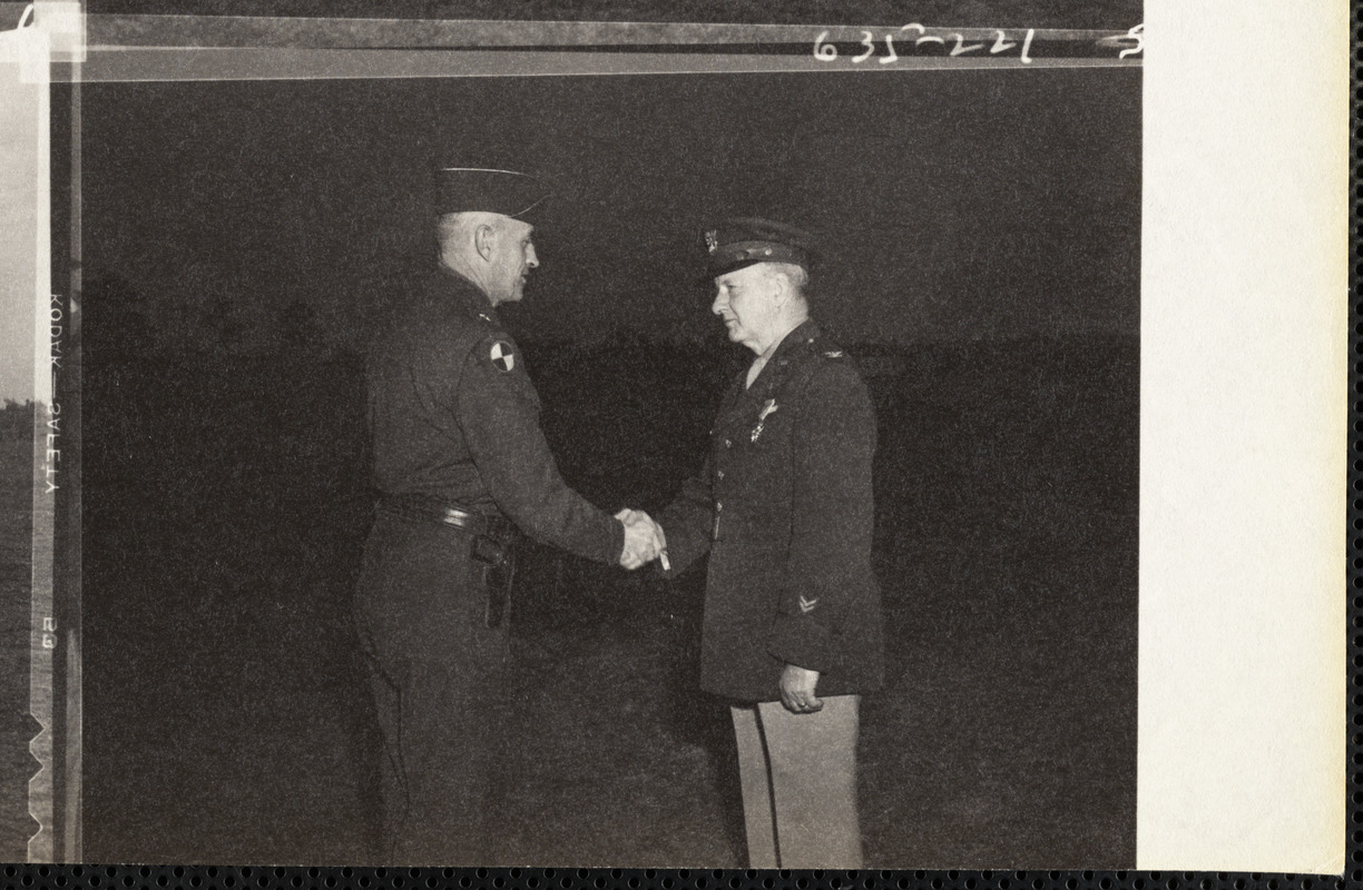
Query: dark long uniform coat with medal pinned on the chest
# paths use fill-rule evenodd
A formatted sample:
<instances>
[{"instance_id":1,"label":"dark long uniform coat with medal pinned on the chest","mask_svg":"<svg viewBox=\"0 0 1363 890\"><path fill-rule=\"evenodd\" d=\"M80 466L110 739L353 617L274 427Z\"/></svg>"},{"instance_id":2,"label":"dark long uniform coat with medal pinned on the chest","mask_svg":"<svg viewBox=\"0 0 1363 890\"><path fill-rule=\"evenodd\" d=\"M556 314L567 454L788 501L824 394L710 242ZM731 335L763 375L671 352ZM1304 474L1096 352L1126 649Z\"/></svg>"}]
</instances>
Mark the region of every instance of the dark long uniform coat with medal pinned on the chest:
<instances>
[{"instance_id":1,"label":"dark long uniform coat with medal pinned on the chest","mask_svg":"<svg viewBox=\"0 0 1363 890\"><path fill-rule=\"evenodd\" d=\"M885 668L866 384L812 321L746 378L720 407L705 469L660 516L672 574L710 554L701 685L776 701L796 664L821 672L821 695L871 691Z\"/></svg>"}]
</instances>

